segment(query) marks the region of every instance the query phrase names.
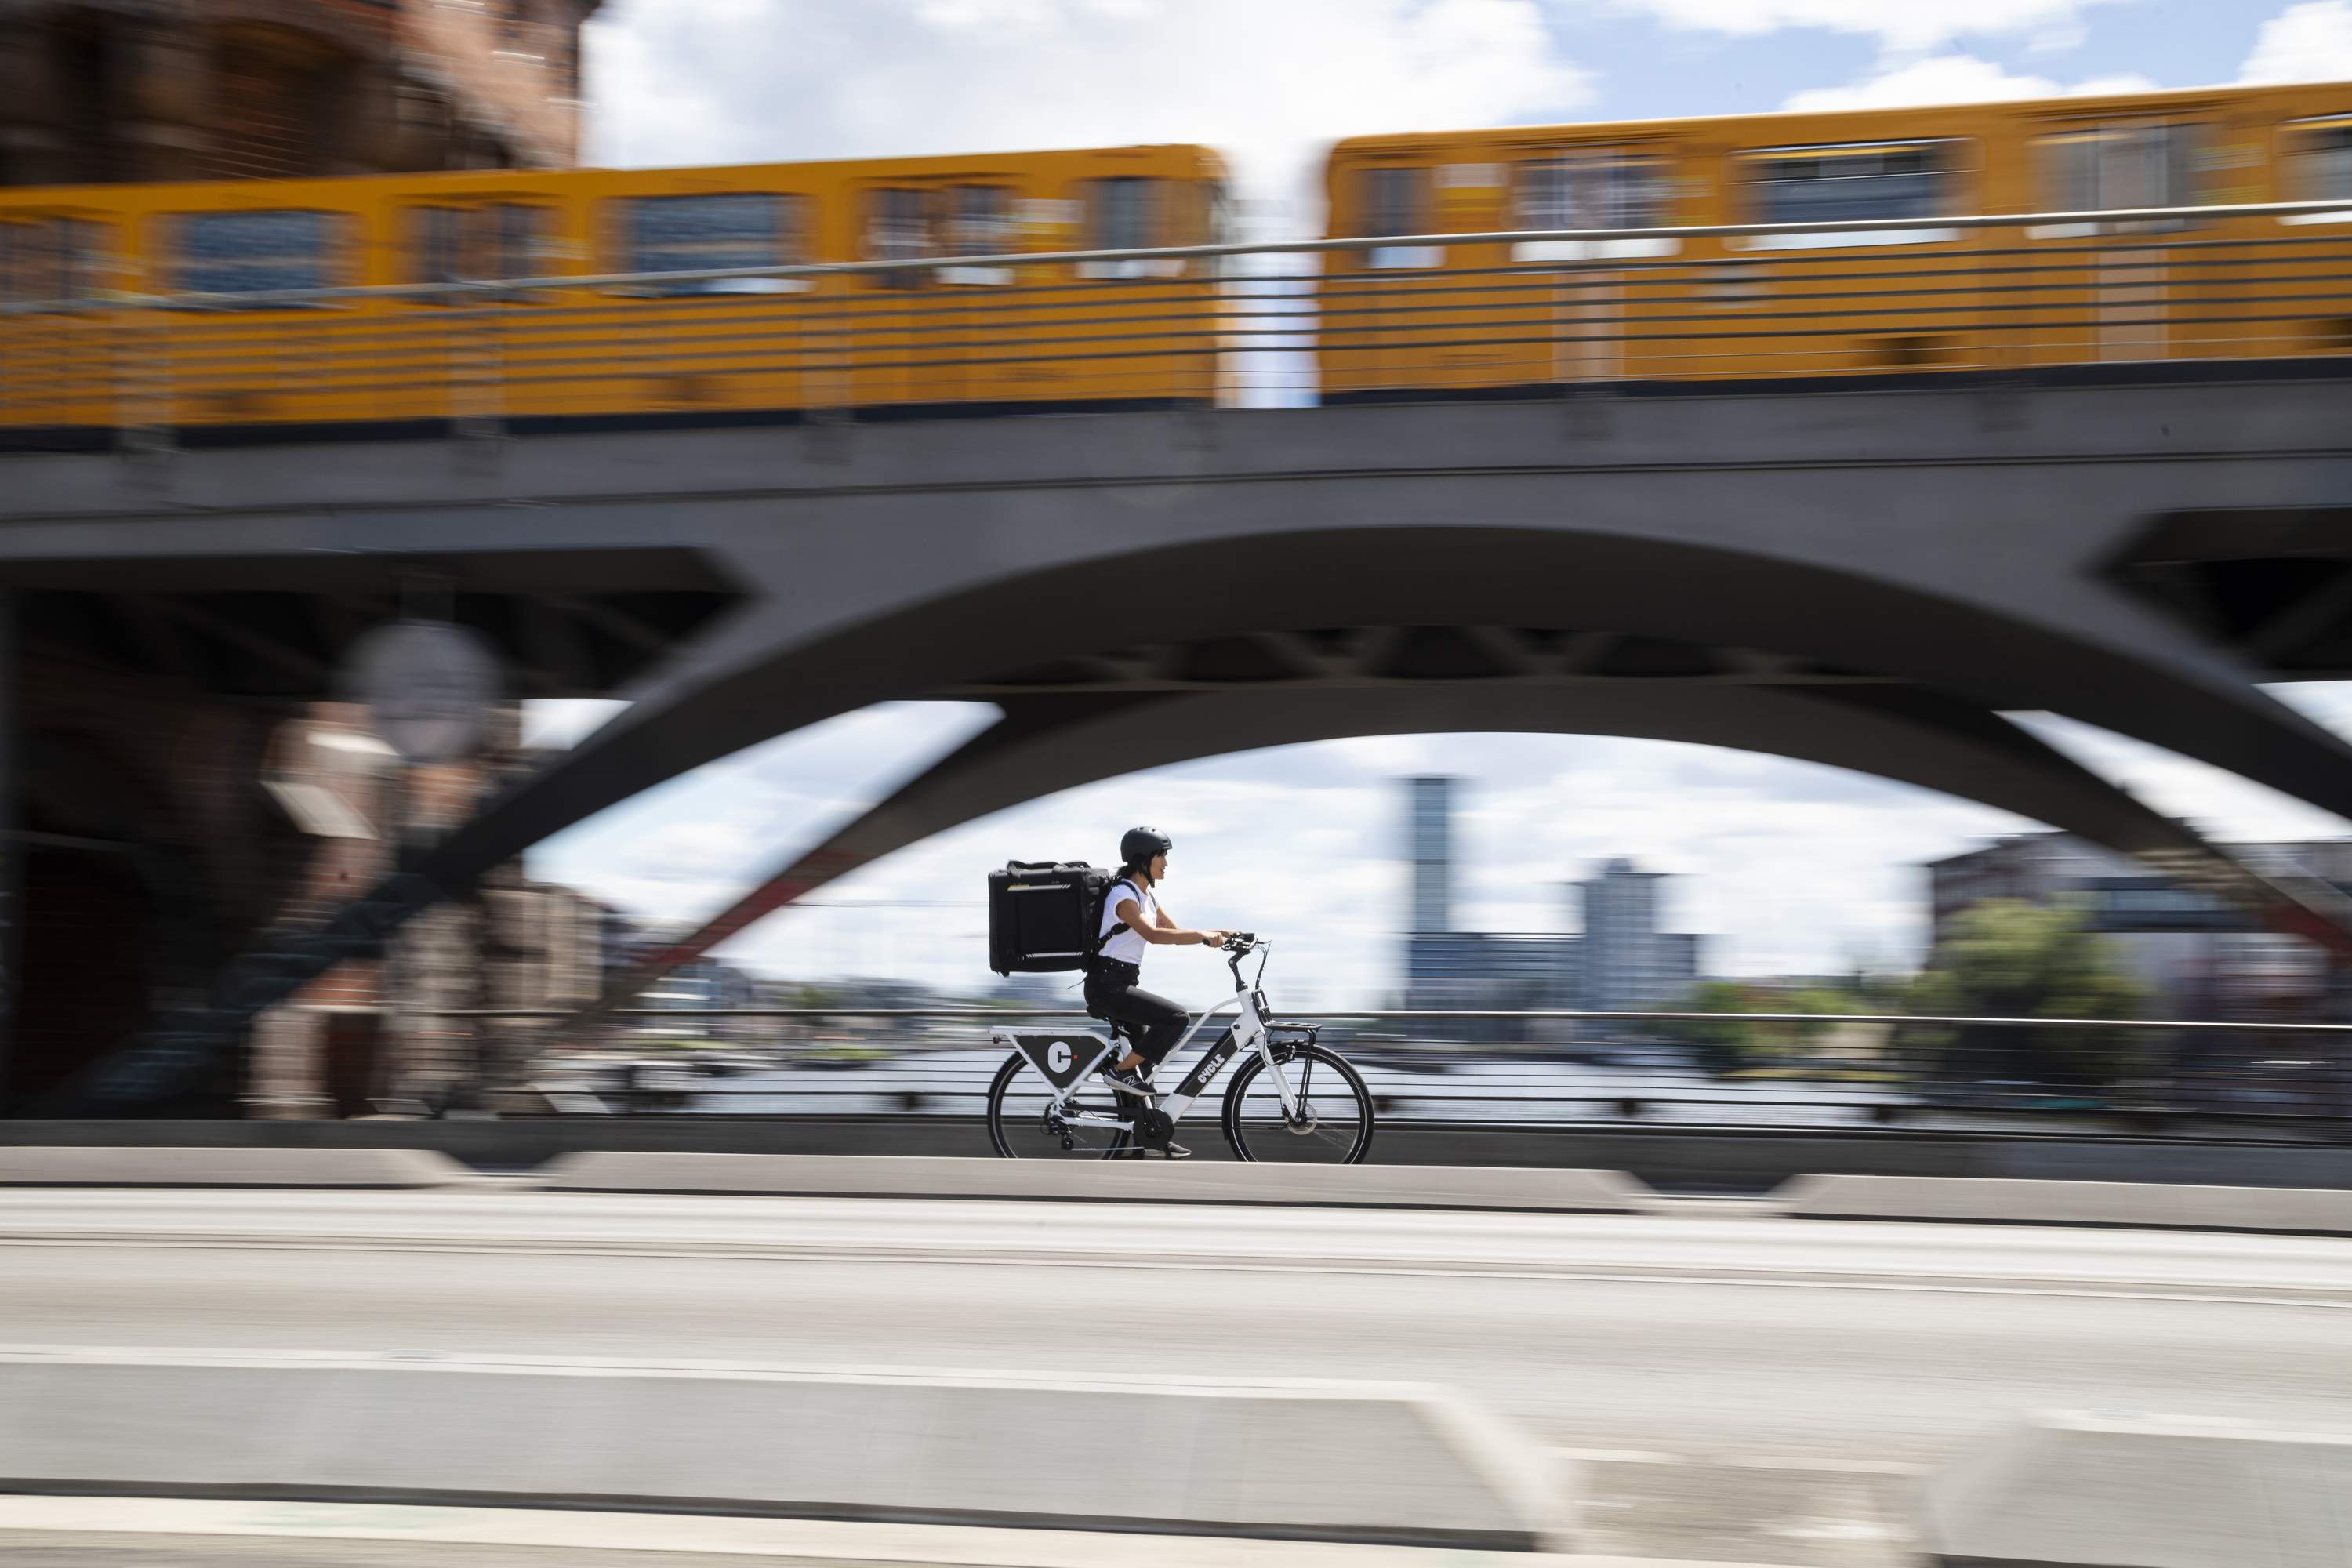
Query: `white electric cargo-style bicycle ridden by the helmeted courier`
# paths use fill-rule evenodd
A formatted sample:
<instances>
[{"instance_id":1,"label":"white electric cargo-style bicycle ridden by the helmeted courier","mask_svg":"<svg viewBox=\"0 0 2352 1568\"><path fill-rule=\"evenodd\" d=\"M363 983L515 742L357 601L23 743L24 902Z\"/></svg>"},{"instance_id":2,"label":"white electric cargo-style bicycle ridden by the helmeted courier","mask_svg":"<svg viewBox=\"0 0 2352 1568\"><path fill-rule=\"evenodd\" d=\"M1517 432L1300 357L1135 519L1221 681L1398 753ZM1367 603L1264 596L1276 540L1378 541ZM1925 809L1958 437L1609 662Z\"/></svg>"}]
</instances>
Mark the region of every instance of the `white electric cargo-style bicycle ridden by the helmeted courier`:
<instances>
[{"instance_id":1,"label":"white electric cargo-style bicycle ridden by the helmeted courier","mask_svg":"<svg viewBox=\"0 0 2352 1568\"><path fill-rule=\"evenodd\" d=\"M1138 1159L1167 1154L1176 1124L1232 1058L1244 1058L1225 1086L1225 1143L1235 1159L1352 1166L1371 1152L1371 1091L1348 1060L1317 1039L1322 1025L1277 1023L1265 1004L1265 954L1247 931L1225 938L1232 997L1192 1020L1160 1074L1183 1056L1211 1018L1232 1023L1200 1053L1176 1088L1136 1098L1110 1088L1101 1072L1127 1056L1129 1032L995 1030L1011 1056L988 1086L988 1140L1004 1159ZM1258 952L1258 973L1242 959Z\"/></svg>"}]
</instances>

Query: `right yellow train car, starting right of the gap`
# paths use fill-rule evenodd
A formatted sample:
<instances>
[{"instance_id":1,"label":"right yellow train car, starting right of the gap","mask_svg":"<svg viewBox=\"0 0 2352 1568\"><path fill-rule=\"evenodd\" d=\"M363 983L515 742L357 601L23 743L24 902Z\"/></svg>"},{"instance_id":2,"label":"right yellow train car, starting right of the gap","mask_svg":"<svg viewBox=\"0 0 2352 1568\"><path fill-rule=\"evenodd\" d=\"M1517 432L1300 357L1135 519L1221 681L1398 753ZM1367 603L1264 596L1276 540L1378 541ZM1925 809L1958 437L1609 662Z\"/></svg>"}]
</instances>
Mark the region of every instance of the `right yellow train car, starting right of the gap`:
<instances>
[{"instance_id":1,"label":"right yellow train car, starting right of the gap","mask_svg":"<svg viewBox=\"0 0 2352 1568\"><path fill-rule=\"evenodd\" d=\"M2352 259L2352 85L1357 136L1327 190L1334 240L1828 226L1329 252L1331 402L2352 346L2328 299ZM1950 223L2338 197L2209 223ZM1900 228L1835 228L1858 221Z\"/></svg>"}]
</instances>

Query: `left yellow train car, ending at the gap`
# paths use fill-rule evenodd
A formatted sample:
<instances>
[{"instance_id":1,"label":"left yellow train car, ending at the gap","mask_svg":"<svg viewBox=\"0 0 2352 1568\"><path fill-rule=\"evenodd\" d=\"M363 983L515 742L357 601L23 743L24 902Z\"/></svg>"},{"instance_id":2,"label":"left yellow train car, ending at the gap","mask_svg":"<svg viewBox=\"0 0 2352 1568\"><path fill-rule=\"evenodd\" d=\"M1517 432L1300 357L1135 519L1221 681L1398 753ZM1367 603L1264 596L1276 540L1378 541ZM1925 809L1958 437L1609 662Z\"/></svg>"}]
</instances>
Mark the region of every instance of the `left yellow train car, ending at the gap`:
<instances>
[{"instance_id":1,"label":"left yellow train car, ending at the gap","mask_svg":"<svg viewBox=\"0 0 2352 1568\"><path fill-rule=\"evenodd\" d=\"M1197 146L0 190L0 428L1202 402L1192 261L663 275L1202 244L1225 212Z\"/></svg>"}]
</instances>

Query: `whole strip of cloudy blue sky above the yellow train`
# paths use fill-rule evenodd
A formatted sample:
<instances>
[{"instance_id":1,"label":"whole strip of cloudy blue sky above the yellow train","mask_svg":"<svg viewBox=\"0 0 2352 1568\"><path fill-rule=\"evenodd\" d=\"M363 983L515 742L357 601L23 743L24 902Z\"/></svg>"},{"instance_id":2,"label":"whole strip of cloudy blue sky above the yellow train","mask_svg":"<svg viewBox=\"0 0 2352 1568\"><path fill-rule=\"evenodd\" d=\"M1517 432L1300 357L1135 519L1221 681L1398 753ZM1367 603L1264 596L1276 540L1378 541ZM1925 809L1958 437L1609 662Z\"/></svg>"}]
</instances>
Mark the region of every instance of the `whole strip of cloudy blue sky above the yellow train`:
<instances>
[{"instance_id":1,"label":"whole strip of cloudy blue sky above the yellow train","mask_svg":"<svg viewBox=\"0 0 2352 1568\"><path fill-rule=\"evenodd\" d=\"M588 66L600 162L1209 141L1287 202L1357 132L2352 78L2352 5L614 0Z\"/></svg>"}]
</instances>

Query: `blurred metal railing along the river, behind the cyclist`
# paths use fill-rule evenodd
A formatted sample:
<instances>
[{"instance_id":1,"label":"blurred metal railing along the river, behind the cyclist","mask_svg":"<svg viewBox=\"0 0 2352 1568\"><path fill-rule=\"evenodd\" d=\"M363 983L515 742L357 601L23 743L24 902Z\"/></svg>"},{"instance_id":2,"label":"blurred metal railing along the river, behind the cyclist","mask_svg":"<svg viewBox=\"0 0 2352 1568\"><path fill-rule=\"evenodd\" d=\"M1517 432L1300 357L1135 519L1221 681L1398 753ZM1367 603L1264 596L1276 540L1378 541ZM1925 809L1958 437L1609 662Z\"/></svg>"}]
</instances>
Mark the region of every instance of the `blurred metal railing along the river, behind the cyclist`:
<instances>
[{"instance_id":1,"label":"blurred metal railing along the river, behind the cyclist","mask_svg":"<svg viewBox=\"0 0 2352 1568\"><path fill-rule=\"evenodd\" d=\"M990 1030L1075 1011L626 1009L548 1044L562 1009L435 1011L517 1063L555 1114L978 1114ZM2352 1025L1910 1013L1327 1009L1390 1117L2352 1140ZM647 1032L652 1030L652 1032ZM496 1044L496 1041L503 1041Z\"/></svg>"}]
</instances>

